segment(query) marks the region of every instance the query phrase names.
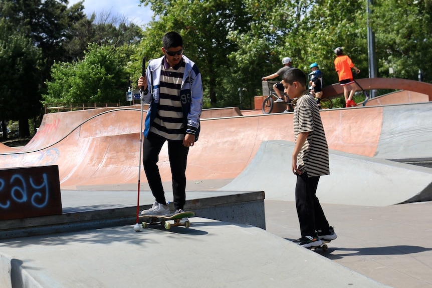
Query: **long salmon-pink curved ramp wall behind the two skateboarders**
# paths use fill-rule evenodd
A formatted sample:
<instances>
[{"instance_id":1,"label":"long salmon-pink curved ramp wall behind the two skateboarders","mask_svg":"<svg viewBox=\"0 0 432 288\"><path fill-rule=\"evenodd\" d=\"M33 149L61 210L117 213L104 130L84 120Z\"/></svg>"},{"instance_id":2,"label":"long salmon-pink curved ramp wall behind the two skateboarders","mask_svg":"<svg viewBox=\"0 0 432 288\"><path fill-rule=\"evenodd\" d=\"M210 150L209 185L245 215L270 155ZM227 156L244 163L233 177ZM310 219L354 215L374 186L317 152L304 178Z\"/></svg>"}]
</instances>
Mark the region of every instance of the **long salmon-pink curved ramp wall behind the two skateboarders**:
<instances>
[{"instance_id":1,"label":"long salmon-pink curved ramp wall behind the two skateboarders","mask_svg":"<svg viewBox=\"0 0 432 288\"><path fill-rule=\"evenodd\" d=\"M432 106L428 103L411 105L412 111L432 111ZM393 123L388 125L393 127L389 128L397 130L397 127L405 124L398 122L397 115L400 111L406 110L406 105L392 107L394 108L390 109L391 114L395 116L392 118ZM375 156L377 152L381 153L378 147L380 136L383 135L386 110L389 110L387 106L322 111L321 116L330 149L369 157ZM59 124L69 123L68 117L71 117L69 115L72 113L68 113L57 113L59 115L56 116L56 121ZM421 124L422 121L417 117L432 119L432 115L429 114L431 112L416 113L411 119L404 117L403 120L415 120ZM262 141L294 141L292 121L292 113L202 119L199 141L189 152L187 178L236 178L251 163ZM58 165L63 189L81 185L137 182L138 165L141 166L138 159L139 109L105 111L75 127L66 125L66 128L59 128L60 126L57 125L57 129L50 130L51 133L44 132L43 137L39 136L38 132L35 135L36 140L19 151L0 153L0 168ZM418 128L418 131L423 130L426 134L423 143L430 135L429 127ZM398 132L399 134L395 134L398 138L393 139L402 146L405 139L400 136L407 133L403 129ZM385 135L391 139L390 134ZM47 140L43 139L45 137ZM61 139L56 141L58 138ZM290 159L286 161L289 162ZM159 157L159 168L162 180L169 181L171 174L166 146ZM146 180L143 170L141 172L141 181L144 182ZM279 172L275 171L275 175Z\"/></svg>"}]
</instances>

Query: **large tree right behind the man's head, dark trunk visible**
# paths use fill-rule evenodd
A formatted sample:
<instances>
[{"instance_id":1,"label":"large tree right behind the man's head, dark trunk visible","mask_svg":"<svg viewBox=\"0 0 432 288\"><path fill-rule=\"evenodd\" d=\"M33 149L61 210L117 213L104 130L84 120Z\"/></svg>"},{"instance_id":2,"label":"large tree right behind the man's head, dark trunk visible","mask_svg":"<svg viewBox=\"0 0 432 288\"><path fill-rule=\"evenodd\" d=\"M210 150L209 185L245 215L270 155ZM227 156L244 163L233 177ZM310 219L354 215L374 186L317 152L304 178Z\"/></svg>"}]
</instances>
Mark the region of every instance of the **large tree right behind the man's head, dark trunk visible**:
<instances>
[{"instance_id":1,"label":"large tree right behind the man's head, dark trunk visible","mask_svg":"<svg viewBox=\"0 0 432 288\"><path fill-rule=\"evenodd\" d=\"M224 99L230 91L222 85L226 71L230 70L228 55L238 47L230 40L230 31L246 32L250 16L246 14L243 1L157 1L140 0L151 5L151 10L159 17L152 21L147 30L161 31L157 41L158 50L164 33L175 30L183 37L185 55L199 67L203 86L208 90L209 104L215 107L218 98ZM161 27L162 26L162 27ZM146 40L144 45L148 45ZM237 89L236 89L237 90ZM237 92L236 92L237 93ZM219 96L218 96L219 95ZM208 102L207 102L208 103Z\"/></svg>"}]
</instances>

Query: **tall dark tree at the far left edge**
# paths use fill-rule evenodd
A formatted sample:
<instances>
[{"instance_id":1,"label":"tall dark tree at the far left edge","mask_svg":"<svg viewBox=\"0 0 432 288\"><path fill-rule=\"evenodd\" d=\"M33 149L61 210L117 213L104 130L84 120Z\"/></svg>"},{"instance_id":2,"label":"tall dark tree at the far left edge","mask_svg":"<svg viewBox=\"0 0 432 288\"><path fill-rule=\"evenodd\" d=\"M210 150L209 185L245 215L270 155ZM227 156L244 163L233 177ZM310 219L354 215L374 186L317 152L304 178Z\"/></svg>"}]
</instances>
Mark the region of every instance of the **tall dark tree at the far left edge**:
<instances>
[{"instance_id":1,"label":"tall dark tree at the far left edge","mask_svg":"<svg viewBox=\"0 0 432 288\"><path fill-rule=\"evenodd\" d=\"M71 8L66 4L65 0L0 0L2 28L8 26L2 29L8 33L3 40L9 47L4 61L10 64L2 71L13 78L2 85L7 92L2 96L9 105L9 118L20 122L21 136L30 134L28 119L41 113L41 91L51 65L65 57L63 44L70 37L71 23L84 17L82 3Z\"/></svg>"}]
</instances>

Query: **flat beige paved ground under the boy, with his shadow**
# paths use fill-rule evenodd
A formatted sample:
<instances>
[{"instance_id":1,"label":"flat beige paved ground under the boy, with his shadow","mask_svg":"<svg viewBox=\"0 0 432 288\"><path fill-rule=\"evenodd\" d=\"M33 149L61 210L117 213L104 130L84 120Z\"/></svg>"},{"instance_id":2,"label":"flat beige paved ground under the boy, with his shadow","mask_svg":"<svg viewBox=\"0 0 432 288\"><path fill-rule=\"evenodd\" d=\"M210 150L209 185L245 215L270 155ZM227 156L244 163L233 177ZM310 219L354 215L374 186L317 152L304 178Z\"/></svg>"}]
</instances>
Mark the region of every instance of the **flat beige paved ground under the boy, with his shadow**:
<instances>
[{"instance_id":1,"label":"flat beige paved ground under the boy, with his shadow","mask_svg":"<svg viewBox=\"0 0 432 288\"><path fill-rule=\"evenodd\" d=\"M265 205L267 231L300 237L294 202L265 200ZM392 287L432 287L432 202L322 206L338 237L319 254Z\"/></svg>"}]
</instances>

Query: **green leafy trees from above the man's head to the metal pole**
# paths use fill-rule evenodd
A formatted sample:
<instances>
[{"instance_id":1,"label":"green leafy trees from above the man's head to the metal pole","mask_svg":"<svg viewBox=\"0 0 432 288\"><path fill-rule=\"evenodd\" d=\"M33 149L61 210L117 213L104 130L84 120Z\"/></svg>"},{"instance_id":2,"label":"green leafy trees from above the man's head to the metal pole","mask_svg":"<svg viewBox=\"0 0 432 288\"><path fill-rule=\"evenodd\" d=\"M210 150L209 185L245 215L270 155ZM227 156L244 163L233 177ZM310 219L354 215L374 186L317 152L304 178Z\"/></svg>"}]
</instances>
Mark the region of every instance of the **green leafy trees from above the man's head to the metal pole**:
<instances>
[{"instance_id":1,"label":"green leafy trees from above the man's head to the metal pole","mask_svg":"<svg viewBox=\"0 0 432 288\"><path fill-rule=\"evenodd\" d=\"M201 70L204 103L211 107L251 107L253 97L262 94L261 78L277 71L287 56L305 73L309 73L310 63L317 62L325 84L333 84L338 80L333 65L337 46L344 47L363 71L361 76L367 77L366 2L141 3L150 5L158 17L144 32L154 31L150 32L153 37L142 46L149 48L149 39L160 43L165 32L178 31L185 41L185 54Z\"/></svg>"}]
</instances>

